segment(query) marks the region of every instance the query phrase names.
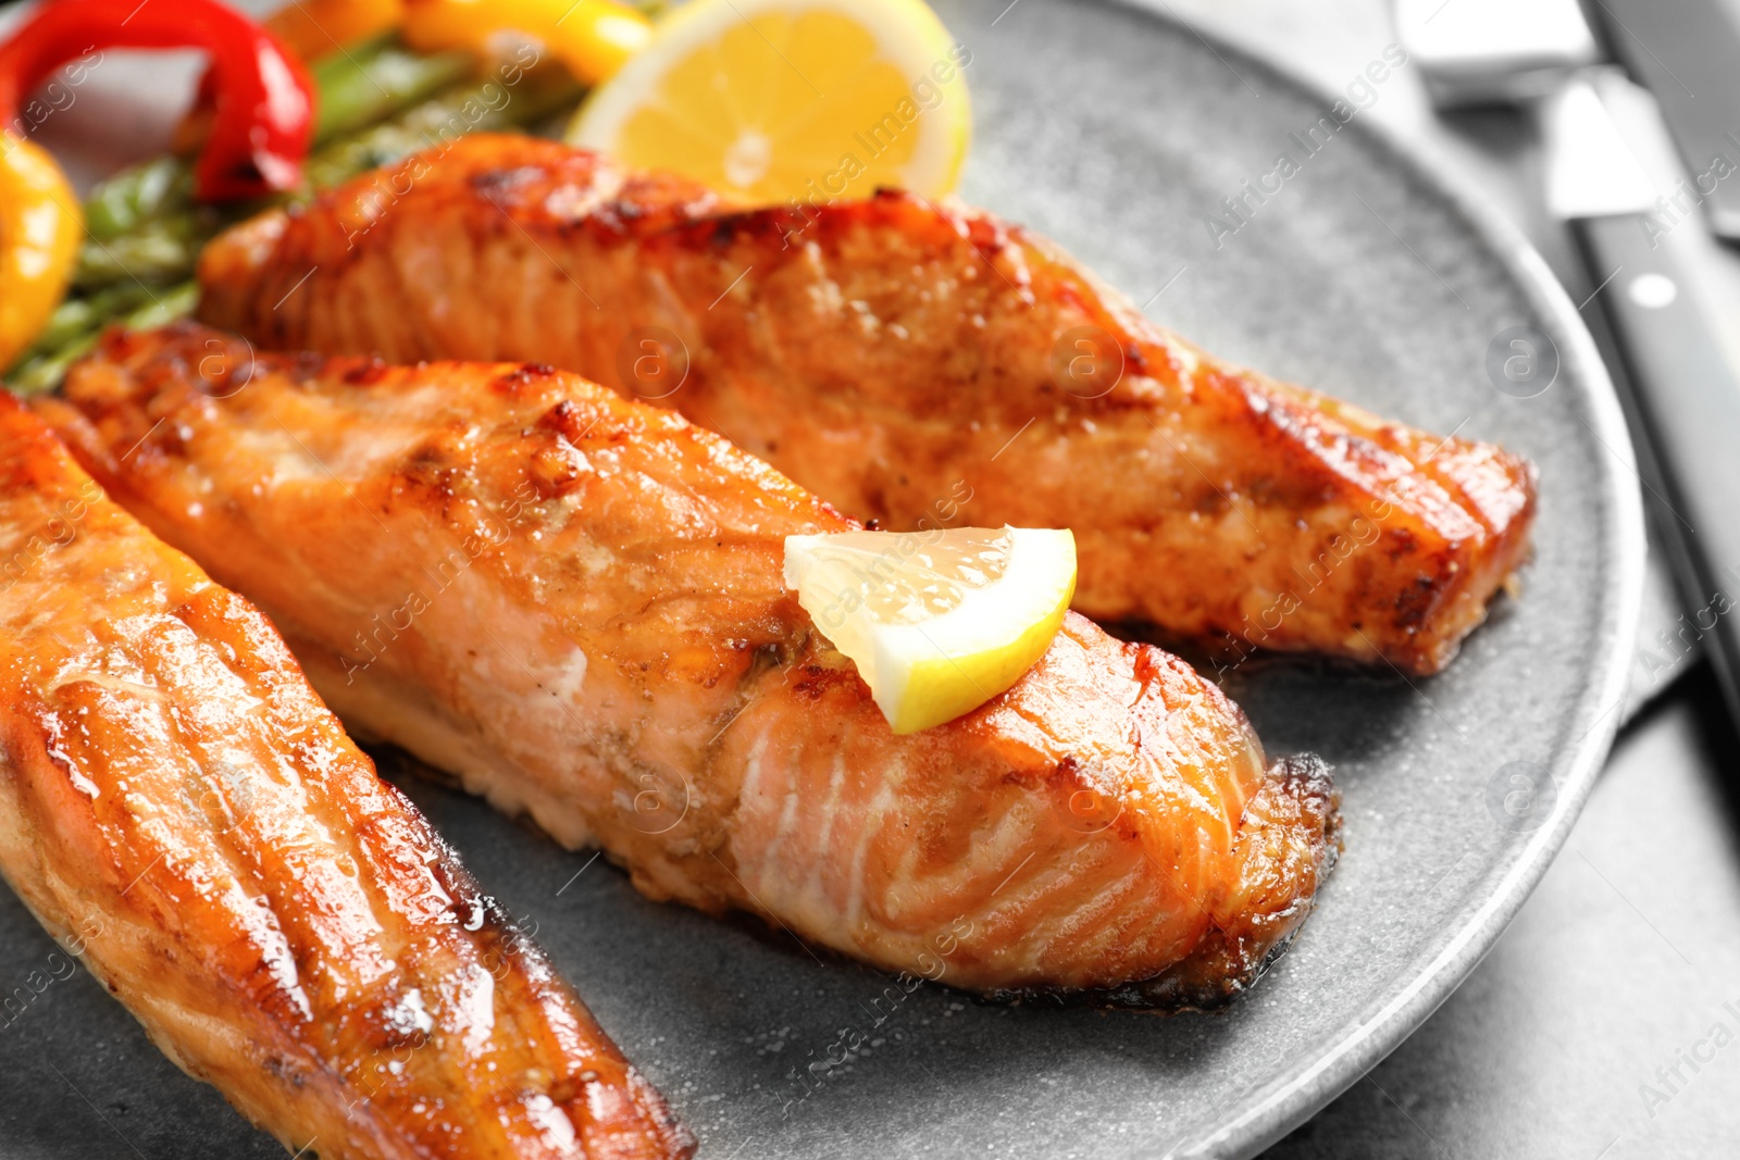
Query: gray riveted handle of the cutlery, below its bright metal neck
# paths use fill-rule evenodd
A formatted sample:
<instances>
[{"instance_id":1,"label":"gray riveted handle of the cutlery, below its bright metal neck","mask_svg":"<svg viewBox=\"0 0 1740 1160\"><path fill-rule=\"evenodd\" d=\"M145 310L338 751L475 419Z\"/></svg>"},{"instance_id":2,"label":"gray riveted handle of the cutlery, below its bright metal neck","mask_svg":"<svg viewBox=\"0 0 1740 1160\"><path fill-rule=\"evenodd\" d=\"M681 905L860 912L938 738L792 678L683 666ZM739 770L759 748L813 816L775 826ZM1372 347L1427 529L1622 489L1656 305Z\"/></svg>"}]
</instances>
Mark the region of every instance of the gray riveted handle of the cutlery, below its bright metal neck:
<instances>
[{"instance_id":1,"label":"gray riveted handle of the cutlery, below its bright metal neck","mask_svg":"<svg viewBox=\"0 0 1740 1160\"><path fill-rule=\"evenodd\" d=\"M1592 277L1608 280L1597 296L1625 363L1615 377L1662 471L1660 530L1683 624L1703 643L1740 723L1740 379L1641 217L1589 217L1571 228Z\"/></svg>"}]
</instances>

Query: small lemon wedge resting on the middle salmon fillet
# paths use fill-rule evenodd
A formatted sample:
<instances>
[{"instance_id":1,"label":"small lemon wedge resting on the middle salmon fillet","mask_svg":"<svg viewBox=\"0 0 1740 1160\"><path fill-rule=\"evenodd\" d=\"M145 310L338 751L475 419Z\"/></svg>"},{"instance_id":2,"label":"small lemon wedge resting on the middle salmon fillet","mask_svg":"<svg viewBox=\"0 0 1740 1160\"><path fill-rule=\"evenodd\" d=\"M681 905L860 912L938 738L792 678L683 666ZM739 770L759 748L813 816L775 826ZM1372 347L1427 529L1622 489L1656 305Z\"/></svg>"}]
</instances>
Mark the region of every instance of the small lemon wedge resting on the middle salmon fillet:
<instances>
[{"instance_id":1,"label":"small lemon wedge resting on the middle salmon fillet","mask_svg":"<svg viewBox=\"0 0 1740 1160\"><path fill-rule=\"evenodd\" d=\"M898 734L1021 678L1075 595L1075 537L1025 527L785 537L785 586Z\"/></svg>"}]
</instances>

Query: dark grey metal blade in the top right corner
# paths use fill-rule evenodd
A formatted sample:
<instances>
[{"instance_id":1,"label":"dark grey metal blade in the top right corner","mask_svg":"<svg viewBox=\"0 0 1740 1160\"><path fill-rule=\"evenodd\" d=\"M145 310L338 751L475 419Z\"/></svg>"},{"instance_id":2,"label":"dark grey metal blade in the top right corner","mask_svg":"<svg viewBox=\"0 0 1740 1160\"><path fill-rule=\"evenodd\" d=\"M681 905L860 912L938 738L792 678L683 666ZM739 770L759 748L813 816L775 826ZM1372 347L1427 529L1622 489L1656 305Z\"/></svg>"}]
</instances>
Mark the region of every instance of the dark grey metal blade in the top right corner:
<instances>
[{"instance_id":1,"label":"dark grey metal blade in the top right corner","mask_svg":"<svg viewBox=\"0 0 1740 1160\"><path fill-rule=\"evenodd\" d=\"M1590 0L1630 75L1662 104L1686 188L1740 242L1740 23L1721 0Z\"/></svg>"}]
</instances>

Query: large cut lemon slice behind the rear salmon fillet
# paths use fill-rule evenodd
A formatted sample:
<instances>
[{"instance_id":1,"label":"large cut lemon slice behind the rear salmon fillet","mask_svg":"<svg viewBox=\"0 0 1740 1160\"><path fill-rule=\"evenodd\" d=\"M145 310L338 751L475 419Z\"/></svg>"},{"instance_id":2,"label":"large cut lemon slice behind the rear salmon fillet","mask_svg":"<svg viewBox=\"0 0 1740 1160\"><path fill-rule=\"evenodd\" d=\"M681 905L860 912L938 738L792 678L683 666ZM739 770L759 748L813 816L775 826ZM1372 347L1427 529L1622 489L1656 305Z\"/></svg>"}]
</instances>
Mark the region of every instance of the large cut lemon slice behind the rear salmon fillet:
<instances>
[{"instance_id":1,"label":"large cut lemon slice behind the rear salmon fillet","mask_svg":"<svg viewBox=\"0 0 1740 1160\"><path fill-rule=\"evenodd\" d=\"M689 0L567 141L759 203L940 197L971 137L971 61L922 0Z\"/></svg>"}]
</instances>

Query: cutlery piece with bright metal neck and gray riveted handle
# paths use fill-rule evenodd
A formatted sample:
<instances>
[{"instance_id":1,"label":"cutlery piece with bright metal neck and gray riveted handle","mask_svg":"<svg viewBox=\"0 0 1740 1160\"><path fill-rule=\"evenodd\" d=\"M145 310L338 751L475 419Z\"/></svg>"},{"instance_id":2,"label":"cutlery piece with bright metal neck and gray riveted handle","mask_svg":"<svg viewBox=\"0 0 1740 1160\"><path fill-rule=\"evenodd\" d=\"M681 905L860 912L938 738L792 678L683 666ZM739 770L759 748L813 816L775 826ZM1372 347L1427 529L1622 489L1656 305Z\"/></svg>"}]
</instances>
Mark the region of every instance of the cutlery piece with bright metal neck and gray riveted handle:
<instances>
[{"instance_id":1,"label":"cutlery piece with bright metal neck and gray riveted handle","mask_svg":"<svg viewBox=\"0 0 1740 1160\"><path fill-rule=\"evenodd\" d=\"M1599 283L1623 362L1615 379L1660 468L1662 530L1686 619L1740 723L1740 381L1670 247L1651 237L1655 186L1587 75L1545 101L1542 130L1549 210L1569 226Z\"/></svg>"}]
</instances>

